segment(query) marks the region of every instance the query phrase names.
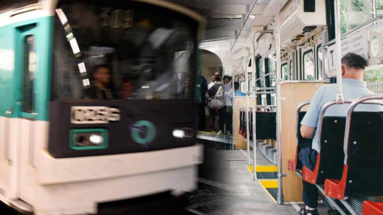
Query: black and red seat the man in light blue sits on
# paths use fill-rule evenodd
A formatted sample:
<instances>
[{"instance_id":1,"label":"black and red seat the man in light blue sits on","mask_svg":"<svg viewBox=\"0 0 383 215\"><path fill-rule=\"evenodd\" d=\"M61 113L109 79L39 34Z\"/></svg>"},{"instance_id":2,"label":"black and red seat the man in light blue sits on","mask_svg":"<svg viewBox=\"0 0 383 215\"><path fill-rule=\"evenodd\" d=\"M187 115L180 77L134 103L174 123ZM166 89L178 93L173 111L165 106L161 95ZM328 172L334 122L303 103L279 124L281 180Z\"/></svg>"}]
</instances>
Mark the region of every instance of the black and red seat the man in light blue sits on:
<instances>
[{"instance_id":1,"label":"black and red seat the man in light blue sits on","mask_svg":"<svg viewBox=\"0 0 383 215\"><path fill-rule=\"evenodd\" d=\"M346 117L325 116L319 142L321 146L315 169L303 166L302 178L311 184L324 184L326 179L342 177L344 161L343 141Z\"/></svg>"}]
</instances>

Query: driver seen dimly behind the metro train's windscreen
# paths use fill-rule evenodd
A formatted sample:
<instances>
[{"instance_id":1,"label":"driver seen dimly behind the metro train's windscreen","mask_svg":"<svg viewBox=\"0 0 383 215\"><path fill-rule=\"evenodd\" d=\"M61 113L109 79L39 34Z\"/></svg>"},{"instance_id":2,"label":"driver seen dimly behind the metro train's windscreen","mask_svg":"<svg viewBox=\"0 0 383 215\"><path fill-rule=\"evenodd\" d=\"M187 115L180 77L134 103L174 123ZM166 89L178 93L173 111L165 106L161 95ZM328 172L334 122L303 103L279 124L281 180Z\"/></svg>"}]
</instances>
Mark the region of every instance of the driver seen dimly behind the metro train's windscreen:
<instances>
[{"instance_id":1,"label":"driver seen dimly behind the metro train's windscreen","mask_svg":"<svg viewBox=\"0 0 383 215\"><path fill-rule=\"evenodd\" d=\"M90 99L113 99L109 67L105 64L95 66L92 77L93 84L87 89L86 96Z\"/></svg>"}]
</instances>

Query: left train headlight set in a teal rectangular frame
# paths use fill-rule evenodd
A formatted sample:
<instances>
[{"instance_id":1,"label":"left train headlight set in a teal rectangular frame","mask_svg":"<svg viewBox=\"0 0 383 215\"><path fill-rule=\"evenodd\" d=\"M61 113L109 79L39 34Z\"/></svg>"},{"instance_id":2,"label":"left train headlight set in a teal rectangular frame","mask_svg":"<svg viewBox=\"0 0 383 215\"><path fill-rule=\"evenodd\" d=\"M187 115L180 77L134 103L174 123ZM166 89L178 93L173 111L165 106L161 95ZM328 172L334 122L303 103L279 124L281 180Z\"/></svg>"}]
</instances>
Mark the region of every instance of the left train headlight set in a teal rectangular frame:
<instances>
[{"instance_id":1,"label":"left train headlight set in a teal rectangular frame","mask_svg":"<svg viewBox=\"0 0 383 215\"><path fill-rule=\"evenodd\" d=\"M106 129L71 129L69 148L73 150L106 149L108 136Z\"/></svg>"}]
</instances>

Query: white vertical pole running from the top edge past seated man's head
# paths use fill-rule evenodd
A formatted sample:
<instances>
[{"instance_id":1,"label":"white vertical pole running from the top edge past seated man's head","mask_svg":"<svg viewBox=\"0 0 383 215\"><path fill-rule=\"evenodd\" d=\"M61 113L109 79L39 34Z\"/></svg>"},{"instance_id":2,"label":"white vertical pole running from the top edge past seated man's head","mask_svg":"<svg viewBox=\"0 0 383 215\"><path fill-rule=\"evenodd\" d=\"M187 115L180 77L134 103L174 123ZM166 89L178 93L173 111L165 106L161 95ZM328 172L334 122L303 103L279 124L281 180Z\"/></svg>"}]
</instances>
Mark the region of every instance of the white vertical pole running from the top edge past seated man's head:
<instances>
[{"instance_id":1,"label":"white vertical pole running from the top edge past seated man's head","mask_svg":"<svg viewBox=\"0 0 383 215\"><path fill-rule=\"evenodd\" d=\"M337 104L343 104L342 94L342 62L341 62L341 11L339 0L335 0L335 66L337 68Z\"/></svg>"}]
</instances>

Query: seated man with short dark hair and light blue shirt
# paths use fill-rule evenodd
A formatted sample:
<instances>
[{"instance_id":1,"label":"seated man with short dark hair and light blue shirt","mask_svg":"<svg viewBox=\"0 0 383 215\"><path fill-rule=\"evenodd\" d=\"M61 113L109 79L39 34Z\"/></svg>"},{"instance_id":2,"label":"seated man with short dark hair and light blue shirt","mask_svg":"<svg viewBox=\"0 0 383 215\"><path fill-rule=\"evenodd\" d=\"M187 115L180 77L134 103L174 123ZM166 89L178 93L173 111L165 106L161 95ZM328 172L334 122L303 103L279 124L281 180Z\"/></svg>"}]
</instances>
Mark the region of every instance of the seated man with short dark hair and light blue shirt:
<instances>
[{"instance_id":1,"label":"seated man with short dark hair and light blue shirt","mask_svg":"<svg viewBox=\"0 0 383 215\"><path fill-rule=\"evenodd\" d=\"M354 100L361 96L372 95L372 91L366 88L363 82L367 66L366 60L354 53L348 53L342 58L342 84L343 96L345 100ZM318 123L321 107L330 101L334 101L337 94L336 84L326 84L320 87L311 100L310 107L301 122L301 135L304 138L313 138L312 147L302 148L299 152L299 159L302 164L311 170L315 169L319 150L318 143ZM346 116L350 104L330 107L326 111L329 116ZM368 106L368 105L367 105ZM361 107L359 110L380 111L379 107ZM303 180L303 202L306 207L299 212L300 215L318 215L318 190L313 184Z\"/></svg>"}]
</instances>

